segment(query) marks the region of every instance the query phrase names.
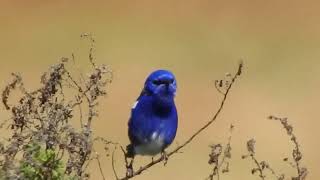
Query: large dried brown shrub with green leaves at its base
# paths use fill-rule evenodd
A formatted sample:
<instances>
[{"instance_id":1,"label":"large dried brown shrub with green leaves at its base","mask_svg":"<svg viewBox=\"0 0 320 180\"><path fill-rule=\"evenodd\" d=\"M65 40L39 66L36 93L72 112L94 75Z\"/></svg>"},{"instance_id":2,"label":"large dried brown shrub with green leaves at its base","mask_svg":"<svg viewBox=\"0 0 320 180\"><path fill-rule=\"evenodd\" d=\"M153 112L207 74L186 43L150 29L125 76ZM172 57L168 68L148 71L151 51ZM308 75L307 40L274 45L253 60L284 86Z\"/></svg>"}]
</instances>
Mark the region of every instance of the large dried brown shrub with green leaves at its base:
<instances>
[{"instance_id":1,"label":"large dried brown shrub with green leaves at its base","mask_svg":"<svg viewBox=\"0 0 320 180\"><path fill-rule=\"evenodd\" d=\"M94 156L92 121L98 116L100 97L112 80L105 65L94 63L94 40L88 76L73 75L74 55L62 58L41 77L41 87L25 89L22 77L13 80L2 92L2 103L11 118L1 124L10 137L0 142L0 175L5 179L87 179L86 167ZM70 66L70 68L69 68ZM80 80L76 80L80 79ZM17 102L14 91L21 92ZM13 100L12 100L13 101ZM84 113L83 111L87 111ZM74 124L79 122L81 127ZM105 140L107 142L107 140ZM94 157L93 157L94 156Z\"/></svg>"}]
</instances>

